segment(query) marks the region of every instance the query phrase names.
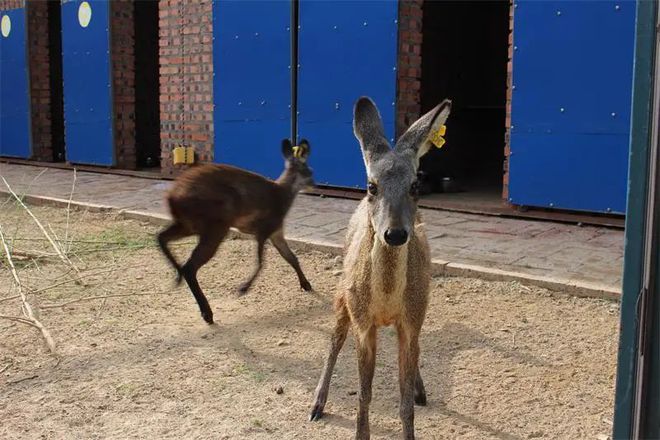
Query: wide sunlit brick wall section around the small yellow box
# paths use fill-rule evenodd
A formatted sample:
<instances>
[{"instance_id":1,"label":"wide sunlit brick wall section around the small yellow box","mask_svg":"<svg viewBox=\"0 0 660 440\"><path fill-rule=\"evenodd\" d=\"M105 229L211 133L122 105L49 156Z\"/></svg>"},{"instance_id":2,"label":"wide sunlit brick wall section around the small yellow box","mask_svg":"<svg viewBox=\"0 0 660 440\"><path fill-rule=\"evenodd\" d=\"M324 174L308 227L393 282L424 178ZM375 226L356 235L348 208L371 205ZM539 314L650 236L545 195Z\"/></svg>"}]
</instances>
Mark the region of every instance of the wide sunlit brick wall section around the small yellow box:
<instances>
[{"instance_id":1,"label":"wide sunlit brick wall section around the small yellow box","mask_svg":"<svg viewBox=\"0 0 660 440\"><path fill-rule=\"evenodd\" d=\"M173 176L172 149L195 147L213 160L213 8L210 0L160 0L161 173ZM183 112L183 114L182 114ZM183 120L182 120L183 118Z\"/></svg>"}]
</instances>

